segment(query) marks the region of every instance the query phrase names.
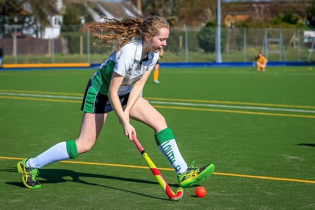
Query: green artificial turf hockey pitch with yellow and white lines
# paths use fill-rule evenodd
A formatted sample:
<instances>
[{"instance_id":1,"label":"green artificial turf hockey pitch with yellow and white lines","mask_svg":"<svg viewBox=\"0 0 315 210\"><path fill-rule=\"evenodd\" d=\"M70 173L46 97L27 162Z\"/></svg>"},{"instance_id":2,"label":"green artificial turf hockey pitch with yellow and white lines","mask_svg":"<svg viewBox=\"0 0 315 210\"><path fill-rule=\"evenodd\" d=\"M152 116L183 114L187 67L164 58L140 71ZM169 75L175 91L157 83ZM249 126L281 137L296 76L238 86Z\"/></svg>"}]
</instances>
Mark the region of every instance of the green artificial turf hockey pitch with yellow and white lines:
<instances>
[{"instance_id":1,"label":"green artificial turf hockey pitch with yellow and white lines","mask_svg":"<svg viewBox=\"0 0 315 210\"><path fill-rule=\"evenodd\" d=\"M0 71L1 209L315 209L315 68L161 68L144 97L165 117L188 164L215 173L168 200L111 113L91 151L39 170L26 188L16 163L78 136L81 97L95 69ZM63 96L63 97L61 97ZM138 139L175 191L152 129ZM207 189L197 198L198 185Z\"/></svg>"}]
</instances>

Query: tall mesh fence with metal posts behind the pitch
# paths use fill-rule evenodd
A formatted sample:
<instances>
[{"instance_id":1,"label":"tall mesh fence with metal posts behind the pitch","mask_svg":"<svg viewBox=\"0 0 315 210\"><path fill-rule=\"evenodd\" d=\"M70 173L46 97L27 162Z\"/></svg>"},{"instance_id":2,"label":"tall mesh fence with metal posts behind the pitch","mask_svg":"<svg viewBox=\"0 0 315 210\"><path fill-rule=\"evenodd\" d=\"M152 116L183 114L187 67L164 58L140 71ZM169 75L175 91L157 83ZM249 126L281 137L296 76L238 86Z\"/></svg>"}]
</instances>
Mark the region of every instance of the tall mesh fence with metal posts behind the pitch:
<instances>
[{"instance_id":1,"label":"tall mesh fence with metal posts behind the pitch","mask_svg":"<svg viewBox=\"0 0 315 210\"><path fill-rule=\"evenodd\" d=\"M50 38L43 39L11 27L0 38L4 64L100 63L113 49L94 46L93 33L97 31L83 26L63 26L51 31L54 32ZM52 33L49 29L45 32ZM306 37L301 29L222 28L222 62L253 61L259 51L269 61L313 61L313 40L312 35ZM162 62L213 62L216 60L214 45L215 28L203 36L201 29L171 28Z\"/></svg>"}]
</instances>

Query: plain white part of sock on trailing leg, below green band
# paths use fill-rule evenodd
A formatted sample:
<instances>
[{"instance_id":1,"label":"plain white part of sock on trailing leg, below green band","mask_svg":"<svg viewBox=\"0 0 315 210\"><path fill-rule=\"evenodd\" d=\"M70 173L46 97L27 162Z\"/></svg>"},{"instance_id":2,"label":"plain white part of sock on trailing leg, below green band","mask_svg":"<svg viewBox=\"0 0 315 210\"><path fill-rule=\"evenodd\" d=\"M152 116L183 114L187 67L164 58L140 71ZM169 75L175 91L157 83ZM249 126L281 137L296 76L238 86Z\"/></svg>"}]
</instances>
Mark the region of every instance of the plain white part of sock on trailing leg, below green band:
<instances>
[{"instance_id":1,"label":"plain white part of sock on trailing leg, below green band","mask_svg":"<svg viewBox=\"0 0 315 210\"><path fill-rule=\"evenodd\" d=\"M36 157L28 159L26 162L27 167L40 169L50 163L58 162L61 160L69 159L66 143L60 142Z\"/></svg>"}]
</instances>

